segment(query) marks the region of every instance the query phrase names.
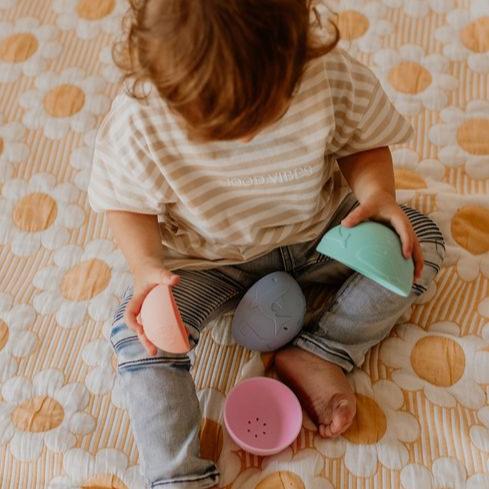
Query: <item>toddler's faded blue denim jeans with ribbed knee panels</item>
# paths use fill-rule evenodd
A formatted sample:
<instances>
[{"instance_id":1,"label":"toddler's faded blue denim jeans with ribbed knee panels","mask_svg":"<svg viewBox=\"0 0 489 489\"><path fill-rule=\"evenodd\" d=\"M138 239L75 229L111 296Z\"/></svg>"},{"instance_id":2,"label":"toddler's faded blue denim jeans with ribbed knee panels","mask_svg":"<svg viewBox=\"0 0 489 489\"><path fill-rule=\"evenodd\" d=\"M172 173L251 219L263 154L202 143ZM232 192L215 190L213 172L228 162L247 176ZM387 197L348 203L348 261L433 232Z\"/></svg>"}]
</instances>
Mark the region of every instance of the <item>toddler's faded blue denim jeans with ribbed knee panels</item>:
<instances>
[{"instance_id":1,"label":"toddler's faded blue denim jeans with ribbed knee panels","mask_svg":"<svg viewBox=\"0 0 489 489\"><path fill-rule=\"evenodd\" d=\"M316 252L329 228L339 224L358 203L350 194L316 239L281 246L245 263L208 270L175 271L181 282L173 289L192 347L204 326L231 310L262 276L282 270L301 285L332 288L319 321L303 328L290 344L341 366L360 366L366 352L385 338L416 296L426 291L445 256L437 226L416 210L403 206L421 243L425 267L409 297L401 297L372 280ZM158 350L149 356L134 331L124 322L132 296L126 291L111 330L118 375L147 487L196 489L216 485L219 471L200 457L201 412L190 374L188 354Z\"/></svg>"}]
</instances>

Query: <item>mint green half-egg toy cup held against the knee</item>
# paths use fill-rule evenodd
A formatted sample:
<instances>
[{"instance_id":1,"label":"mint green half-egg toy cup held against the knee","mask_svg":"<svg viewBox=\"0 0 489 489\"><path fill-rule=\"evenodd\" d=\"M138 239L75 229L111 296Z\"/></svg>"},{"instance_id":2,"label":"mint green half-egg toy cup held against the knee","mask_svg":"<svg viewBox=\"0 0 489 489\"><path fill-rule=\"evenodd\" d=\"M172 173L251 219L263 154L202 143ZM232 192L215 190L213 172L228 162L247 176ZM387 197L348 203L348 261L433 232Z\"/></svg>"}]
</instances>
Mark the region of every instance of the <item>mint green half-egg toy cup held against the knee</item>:
<instances>
[{"instance_id":1,"label":"mint green half-egg toy cup held against the knee","mask_svg":"<svg viewBox=\"0 0 489 489\"><path fill-rule=\"evenodd\" d=\"M404 258L401 239L384 224L365 221L352 228L335 226L316 250L396 294L407 297L411 291L413 260Z\"/></svg>"}]
</instances>

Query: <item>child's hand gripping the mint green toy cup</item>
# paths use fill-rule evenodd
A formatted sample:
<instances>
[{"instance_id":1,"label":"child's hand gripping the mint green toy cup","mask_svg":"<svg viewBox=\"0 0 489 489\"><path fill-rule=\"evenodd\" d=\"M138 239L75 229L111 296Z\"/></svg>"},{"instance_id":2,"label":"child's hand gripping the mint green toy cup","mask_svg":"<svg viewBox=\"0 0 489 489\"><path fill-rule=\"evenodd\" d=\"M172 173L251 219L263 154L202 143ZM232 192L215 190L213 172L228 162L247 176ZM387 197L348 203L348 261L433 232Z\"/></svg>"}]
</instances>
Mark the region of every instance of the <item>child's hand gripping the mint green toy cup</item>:
<instances>
[{"instance_id":1,"label":"child's hand gripping the mint green toy cup","mask_svg":"<svg viewBox=\"0 0 489 489\"><path fill-rule=\"evenodd\" d=\"M419 279L424 266L421 246L409 219L394 197L390 194L373 195L368 200L361 202L341 221L341 224L345 227L353 227L366 219L385 221L392 225L401 238L404 257L413 257L414 279Z\"/></svg>"}]
</instances>

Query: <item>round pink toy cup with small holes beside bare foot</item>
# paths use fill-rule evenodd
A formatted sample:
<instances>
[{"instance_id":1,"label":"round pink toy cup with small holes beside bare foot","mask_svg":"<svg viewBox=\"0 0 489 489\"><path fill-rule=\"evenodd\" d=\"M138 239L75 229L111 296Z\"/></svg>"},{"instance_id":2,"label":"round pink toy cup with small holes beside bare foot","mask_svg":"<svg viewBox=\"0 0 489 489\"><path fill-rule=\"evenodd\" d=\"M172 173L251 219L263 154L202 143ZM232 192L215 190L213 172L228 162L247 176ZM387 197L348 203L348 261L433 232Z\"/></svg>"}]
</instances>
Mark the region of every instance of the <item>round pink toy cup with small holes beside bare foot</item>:
<instances>
[{"instance_id":1,"label":"round pink toy cup with small holes beside bare foot","mask_svg":"<svg viewBox=\"0 0 489 489\"><path fill-rule=\"evenodd\" d=\"M270 377L252 377L234 386L224 402L224 424L243 450L274 455L299 434L302 409L296 395Z\"/></svg>"}]
</instances>

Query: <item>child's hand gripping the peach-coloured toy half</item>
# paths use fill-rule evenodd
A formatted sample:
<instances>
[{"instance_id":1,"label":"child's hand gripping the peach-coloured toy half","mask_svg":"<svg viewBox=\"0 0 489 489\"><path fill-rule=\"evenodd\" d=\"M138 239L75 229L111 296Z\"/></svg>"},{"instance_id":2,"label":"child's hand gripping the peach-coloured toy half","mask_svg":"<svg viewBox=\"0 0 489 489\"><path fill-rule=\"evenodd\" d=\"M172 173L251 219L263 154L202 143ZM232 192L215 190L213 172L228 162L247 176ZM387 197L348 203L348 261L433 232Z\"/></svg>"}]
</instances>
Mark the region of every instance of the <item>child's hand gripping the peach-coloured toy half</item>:
<instances>
[{"instance_id":1,"label":"child's hand gripping the peach-coloured toy half","mask_svg":"<svg viewBox=\"0 0 489 489\"><path fill-rule=\"evenodd\" d=\"M164 268L160 260L144 262L134 272L134 295L127 304L124 320L138 334L139 341L151 356L156 355L157 347L146 337L143 325L137 319L141 306L149 291L157 285L176 285L179 281L180 276Z\"/></svg>"}]
</instances>

